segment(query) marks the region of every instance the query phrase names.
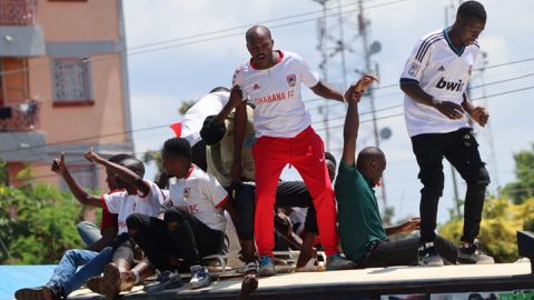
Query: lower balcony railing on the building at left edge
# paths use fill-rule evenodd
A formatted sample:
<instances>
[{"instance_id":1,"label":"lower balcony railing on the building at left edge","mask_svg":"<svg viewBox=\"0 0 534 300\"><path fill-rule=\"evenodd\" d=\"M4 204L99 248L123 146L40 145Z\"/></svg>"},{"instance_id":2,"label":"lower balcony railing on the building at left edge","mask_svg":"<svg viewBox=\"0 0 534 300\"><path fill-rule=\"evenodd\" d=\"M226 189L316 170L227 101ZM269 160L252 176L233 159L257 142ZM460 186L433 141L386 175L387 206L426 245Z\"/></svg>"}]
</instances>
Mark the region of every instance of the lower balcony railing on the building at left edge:
<instances>
[{"instance_id":1,"label":"lower balcony railing on the building at left edge","mask_svg":"<svg viewBox=\"0 0 534 300\"><path fill-rule=\"evenodd\" d=\"M0 107L0 131L32 131L38 127L39 102L26 100Z\"/></svg>"}]
</instances>

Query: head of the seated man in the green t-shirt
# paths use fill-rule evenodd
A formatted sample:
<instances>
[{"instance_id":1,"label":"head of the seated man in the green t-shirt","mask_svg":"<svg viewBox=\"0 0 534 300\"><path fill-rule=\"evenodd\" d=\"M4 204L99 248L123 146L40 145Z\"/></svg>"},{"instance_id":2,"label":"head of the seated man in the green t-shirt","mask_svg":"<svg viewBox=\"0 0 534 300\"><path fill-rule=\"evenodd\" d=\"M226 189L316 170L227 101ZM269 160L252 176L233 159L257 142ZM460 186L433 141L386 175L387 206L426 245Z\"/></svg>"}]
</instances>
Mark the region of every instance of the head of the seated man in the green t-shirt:
<instances>
[{"instance_id":1,"label":"head of the seated man in the green t-shirt","mask_svg":"<svg viewBox=\"0 0 534 300\"><path fill-rule=\"evenodd\" d=\"M386 170L386 157L379 148L367 147L359 151L356 168L375 187Z\"/></svg>"}]
</instances>

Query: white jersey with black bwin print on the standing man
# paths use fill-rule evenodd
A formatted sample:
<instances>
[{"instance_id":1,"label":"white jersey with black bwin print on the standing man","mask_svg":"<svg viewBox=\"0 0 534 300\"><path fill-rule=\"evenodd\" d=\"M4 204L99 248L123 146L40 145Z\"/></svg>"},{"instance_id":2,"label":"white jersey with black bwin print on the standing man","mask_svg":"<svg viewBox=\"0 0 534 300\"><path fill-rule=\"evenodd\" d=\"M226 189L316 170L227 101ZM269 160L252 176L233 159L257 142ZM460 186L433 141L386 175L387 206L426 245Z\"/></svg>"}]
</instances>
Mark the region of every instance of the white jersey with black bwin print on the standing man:
<instances>
[{"instance_id":1,"label":"white jersey with black bwin print on the standing man","mask_svg":"<svg viewBox=\"0 0 534 300\"><path fill-rule=\"evenodd\" d=\"M414 83L442 101L462 104L479 46L475 43L456 49L447 30L434 31L415 46L406 61L400 83ZM438 110L404 97L404 118L409 137L423 133L446 133L468 128L467 118L448 119Z\"/></svg>"}]
</instances>

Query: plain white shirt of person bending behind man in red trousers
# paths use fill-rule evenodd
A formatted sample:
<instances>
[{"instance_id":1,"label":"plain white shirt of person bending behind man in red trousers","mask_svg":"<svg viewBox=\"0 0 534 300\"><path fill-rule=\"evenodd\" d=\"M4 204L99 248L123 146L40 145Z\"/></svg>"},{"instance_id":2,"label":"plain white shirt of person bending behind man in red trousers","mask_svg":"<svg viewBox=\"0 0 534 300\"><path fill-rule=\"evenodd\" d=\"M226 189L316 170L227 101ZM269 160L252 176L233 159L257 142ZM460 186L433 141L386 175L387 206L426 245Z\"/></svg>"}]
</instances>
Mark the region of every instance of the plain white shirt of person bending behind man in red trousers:
<instances>
[{"instance_id":1,"label":"plain white shirt of person bending behind man in red trousers","mask_svg":"<svg viewBox=\"0 0 534 300\"><path fill-rule=\"evenodd\" d=\"M202 129L206 117L218 114L228 103L230 93L227 91L210 92L198 100L189 108L181 122L180 137L186 139L191 147L201 140L200 129Z\"/></svg>"}]
</instances>

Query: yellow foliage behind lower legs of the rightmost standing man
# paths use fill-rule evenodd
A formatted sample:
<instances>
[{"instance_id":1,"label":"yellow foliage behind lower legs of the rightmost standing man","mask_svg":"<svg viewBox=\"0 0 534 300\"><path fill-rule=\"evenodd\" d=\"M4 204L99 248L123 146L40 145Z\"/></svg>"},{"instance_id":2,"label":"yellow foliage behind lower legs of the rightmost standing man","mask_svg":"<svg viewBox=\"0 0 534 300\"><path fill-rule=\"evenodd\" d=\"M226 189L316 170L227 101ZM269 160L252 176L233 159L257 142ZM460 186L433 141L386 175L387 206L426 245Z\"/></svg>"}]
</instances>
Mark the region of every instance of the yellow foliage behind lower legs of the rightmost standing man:
<instances>
[{"instance_id":1,"label":"yellow foliage behind lower legs of the rightmost standing man","mask_svg":"<svg viewBox=\"0 0 534 300\"><path fill-rule=\"evenodd\" d=\"M507 199L491 199L484 204L481 234L483 250L496 262L513 262L518 259L517 230L534 229L534 198L515 204ZM439 233L451 241L459 241L462 218L453 218L439 228Z\"/></svg>"}]
</instances>

